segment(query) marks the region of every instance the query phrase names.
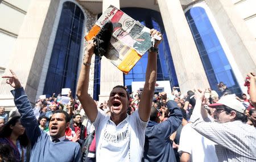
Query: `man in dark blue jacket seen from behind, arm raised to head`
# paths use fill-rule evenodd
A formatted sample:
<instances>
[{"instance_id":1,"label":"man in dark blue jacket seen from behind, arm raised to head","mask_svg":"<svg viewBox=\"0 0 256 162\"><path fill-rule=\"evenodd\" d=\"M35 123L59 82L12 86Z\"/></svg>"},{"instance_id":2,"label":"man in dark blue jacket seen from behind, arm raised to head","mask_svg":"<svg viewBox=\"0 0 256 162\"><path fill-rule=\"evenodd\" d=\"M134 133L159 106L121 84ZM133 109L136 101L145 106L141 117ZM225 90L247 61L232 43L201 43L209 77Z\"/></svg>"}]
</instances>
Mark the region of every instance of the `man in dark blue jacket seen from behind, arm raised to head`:
<instances>
[{"instance_id":1,"label":"man in dark blue jacket seen from behind, arm raised to head","mask_svg":"<svg viewBox=\"0 0 256 162\"><path fill-rule=\"evenodd\" d=\"M177 130L183 116L175 101L168 101L166 106L171 115L162 123L159 123L158 110L151 108L142 161L176 161L170 135Z\"/></svg>"}]
</instances>

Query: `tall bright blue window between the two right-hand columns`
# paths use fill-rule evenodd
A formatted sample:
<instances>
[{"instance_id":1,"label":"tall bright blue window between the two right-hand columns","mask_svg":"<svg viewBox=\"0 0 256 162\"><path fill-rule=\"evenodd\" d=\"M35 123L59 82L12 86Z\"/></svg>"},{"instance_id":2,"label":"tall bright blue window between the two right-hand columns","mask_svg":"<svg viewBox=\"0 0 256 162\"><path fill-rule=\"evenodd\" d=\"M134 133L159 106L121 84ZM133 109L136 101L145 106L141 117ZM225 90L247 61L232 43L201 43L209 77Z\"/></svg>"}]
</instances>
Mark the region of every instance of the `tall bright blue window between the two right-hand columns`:
<instances>
[{"instance_id":1,"label":"tall bright blue window between the two right-hand columns","mask_svg":"<svg viewBox=\"0 0 256 162\"><path fill-rule=\"evenodd\" d=\"M233 93L241 95L241 89L238 86L228 58L204 8L192 7L185 13L185 16L196 42L210 87L221 95L217 84L224 82Z\"/></svg>"}]
</instances>

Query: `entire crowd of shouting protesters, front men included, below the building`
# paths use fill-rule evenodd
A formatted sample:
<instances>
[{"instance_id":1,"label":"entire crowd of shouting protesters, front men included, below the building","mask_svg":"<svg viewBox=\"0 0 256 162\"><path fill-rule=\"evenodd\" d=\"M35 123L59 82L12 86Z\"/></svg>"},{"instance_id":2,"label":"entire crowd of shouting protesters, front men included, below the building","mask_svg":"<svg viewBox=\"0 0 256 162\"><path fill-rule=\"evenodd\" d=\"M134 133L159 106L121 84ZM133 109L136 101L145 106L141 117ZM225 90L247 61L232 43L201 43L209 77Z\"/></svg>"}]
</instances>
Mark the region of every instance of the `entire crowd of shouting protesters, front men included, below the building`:
<instances>
[{"instance_id":1,"label":"entire crowd of shouting protesters, front men included, below the building","mask_svg":"<svg viewBox=\"0 0 256 162\"><path fill-rule=\"evenodd\" d=\"M154 94L151 51L143 91L116 86L98 103L88 94L93 47L86 48L78 98L70 91L67 104L53 93L32 108L14 71L3 76L16 109L8 115L0 107L0 161L256 161L254 73L241 98L223 82L216 85L221 96L210 88L181 94L179 87Z\"/></svg>"}]
</instances>

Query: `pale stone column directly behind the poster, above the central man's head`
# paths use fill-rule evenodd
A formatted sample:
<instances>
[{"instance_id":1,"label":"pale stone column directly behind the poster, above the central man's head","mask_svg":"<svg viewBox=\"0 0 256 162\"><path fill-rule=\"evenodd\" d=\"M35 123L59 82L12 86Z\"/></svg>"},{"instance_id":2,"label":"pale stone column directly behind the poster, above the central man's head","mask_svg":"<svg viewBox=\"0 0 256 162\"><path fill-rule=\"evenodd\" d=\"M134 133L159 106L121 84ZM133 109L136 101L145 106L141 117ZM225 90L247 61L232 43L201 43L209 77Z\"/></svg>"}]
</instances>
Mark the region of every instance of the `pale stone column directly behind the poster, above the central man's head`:
<instances>
[{"instance_id":1,"label":"pale stone column directly behind the poster, above the central man's head","mask_svg":"<svg viewBox=\"0 0 256 162\"><path fill-rule=\"evenodd\" d=\"M113 5L117 8L120 7L119 0L103 0L102 12ZM109 94L114 86L123 86L123 73L115 67L108 59L102 57L101 59L101 90L99 101L102 103L104 100L108 101Z\"/></svg>"}]
</instances>

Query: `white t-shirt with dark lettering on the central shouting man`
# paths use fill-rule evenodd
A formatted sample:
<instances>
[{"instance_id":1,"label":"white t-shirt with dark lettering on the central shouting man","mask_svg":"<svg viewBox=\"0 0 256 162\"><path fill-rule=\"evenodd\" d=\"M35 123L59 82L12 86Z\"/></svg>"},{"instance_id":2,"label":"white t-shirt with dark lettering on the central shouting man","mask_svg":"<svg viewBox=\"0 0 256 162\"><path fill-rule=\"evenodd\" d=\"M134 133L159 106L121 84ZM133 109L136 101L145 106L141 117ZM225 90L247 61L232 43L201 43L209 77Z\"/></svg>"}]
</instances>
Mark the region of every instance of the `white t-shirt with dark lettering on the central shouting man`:
<instances>
[{"instance_id":1,"label":"white t-shirt with dark lettering on the central shouting man","mask_svg":"<svg viewBox=\"0 0 256 162\"><path fill-rule=\"evenodd\" d=\"M96 120L96 161L141 161L147 122L138 110L117 126L110 116L98 109Z\"/></svg>"}]
</instances>

